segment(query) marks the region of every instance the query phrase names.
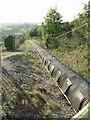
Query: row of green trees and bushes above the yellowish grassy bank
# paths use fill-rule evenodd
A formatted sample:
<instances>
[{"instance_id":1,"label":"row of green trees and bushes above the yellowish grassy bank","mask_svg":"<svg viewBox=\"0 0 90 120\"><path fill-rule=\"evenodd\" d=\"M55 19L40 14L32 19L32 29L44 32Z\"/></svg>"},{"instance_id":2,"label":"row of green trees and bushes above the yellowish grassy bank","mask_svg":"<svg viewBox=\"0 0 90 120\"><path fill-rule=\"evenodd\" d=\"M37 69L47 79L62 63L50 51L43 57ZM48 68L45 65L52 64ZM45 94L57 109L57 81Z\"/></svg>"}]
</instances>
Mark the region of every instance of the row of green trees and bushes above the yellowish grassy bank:
<instances>
[{"instance_id":1,"label":"row of green trees and bushes above the yellowish grassy bank","mask_svg":"<svg viewBox=\"0 0 90 120\"><path fill-rule=\"evenodd\" d=\"M44 17L44 22L42 22L41 25L37 25L36 27L26 31L24 39L41 39L42 41L45 41L45 46L47 48L58 48L60 47L60 44L64 44L64 46L68 46L70 48L70 44L72 45L72 42L69 43L68 39L73 37L76 37L76 40L73 40L76 46L81 43L87 44L89 34L88 24L86 26L84 25L88 23L88 11L89 4L85 4L83 13L79 13L77 18L72 22L63 22L62 15L58 12L57 8L51 8ZM81 26L81 28L78 28L79 26ZM57 36L65 34L68 31L71 32L64 35L64 38L59 37L57 39ZM65 39L65 41L62 41L62 38ZM61 41L62 43L60 43Z\"/></svg>"}]
</instances>

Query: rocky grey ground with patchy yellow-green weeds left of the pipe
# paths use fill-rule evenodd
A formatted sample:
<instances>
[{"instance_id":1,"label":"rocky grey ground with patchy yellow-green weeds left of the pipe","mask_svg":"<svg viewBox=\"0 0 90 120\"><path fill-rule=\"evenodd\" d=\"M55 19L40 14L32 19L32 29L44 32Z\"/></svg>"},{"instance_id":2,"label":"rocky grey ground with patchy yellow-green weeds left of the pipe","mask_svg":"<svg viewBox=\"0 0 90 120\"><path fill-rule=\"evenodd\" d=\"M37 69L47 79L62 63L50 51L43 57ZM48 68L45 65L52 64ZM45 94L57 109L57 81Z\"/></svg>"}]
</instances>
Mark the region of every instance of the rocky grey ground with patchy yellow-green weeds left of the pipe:
<instances>
[{"instance_id":1,"label":"rocky grey ground with patchy yellow-green weeds left of the pipe","mask_svg":"<svg viewBox=\"0 0 90 120\"><path fill-rule=\"evenodd\" d=\"M70 119L75 115L34 52L7 57L3 67L3 119Z\"/></svg>"}]
</instances>

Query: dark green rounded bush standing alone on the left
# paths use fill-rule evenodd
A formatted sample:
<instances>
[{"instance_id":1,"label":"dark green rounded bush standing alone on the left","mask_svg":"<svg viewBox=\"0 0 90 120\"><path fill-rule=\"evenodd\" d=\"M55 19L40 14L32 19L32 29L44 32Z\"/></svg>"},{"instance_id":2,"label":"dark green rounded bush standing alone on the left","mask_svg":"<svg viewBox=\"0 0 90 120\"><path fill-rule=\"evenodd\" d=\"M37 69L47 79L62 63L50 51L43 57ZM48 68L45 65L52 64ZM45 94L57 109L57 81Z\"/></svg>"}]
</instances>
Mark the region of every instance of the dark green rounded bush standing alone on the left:
<instances>
[{"instance_id":1,"label":"dark green rounded bush standing alone on the left","mask_svg":"<svg viewBox=\"0 0 90 120\"><path fill-rule=\"evenodd\" d=\"M8 36L4 40L4 45L7 50L14 50L15 49L15 37L13 35Z\"/></svg>"}]
</instances>

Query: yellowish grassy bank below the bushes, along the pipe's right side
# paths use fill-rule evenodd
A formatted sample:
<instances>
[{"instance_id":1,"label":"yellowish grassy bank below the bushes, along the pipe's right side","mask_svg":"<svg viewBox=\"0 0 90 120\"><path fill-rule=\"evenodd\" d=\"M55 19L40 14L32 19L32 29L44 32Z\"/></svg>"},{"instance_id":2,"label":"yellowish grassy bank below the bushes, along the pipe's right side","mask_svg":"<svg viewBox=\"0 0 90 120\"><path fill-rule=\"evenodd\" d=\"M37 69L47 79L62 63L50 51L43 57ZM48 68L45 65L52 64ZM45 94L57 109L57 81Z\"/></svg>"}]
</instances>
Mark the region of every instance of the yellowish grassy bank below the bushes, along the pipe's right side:
<instances>
[{"instance_id":1,"label":"yellowish grassy bank below the bushes, along the pipe's right side","mask_svg":"<svg viewBox=\"0 0 90 120\"><path fill-rule=\"evenodd\" d=\"M36 41L42 47L45 47L44 41ZM88 73L88 46L79 46L74 50L64 50L58 49L47 49L54 56L56 56L60 61L66 64L69 68L74 70L80 76L89 81L89 73Z\"/></svg>"}]
</instances>

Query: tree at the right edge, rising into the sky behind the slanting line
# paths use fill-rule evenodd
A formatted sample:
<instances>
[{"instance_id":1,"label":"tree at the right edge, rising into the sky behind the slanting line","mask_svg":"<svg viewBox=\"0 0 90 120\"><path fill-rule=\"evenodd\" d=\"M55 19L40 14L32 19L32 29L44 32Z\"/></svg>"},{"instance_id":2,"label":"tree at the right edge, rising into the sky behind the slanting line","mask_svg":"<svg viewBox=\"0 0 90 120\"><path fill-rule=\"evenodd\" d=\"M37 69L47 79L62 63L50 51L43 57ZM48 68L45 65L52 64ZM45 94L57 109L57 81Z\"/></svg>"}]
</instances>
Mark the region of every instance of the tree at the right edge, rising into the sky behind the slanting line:
<instances>
[{"instance_id":1,"label":"tree at the right edge, rising into the sky behind the slanting line","mask_svg":"<svg viewBox=\"0 0 90 120\"><path fill-rule=\"evenodd\" d=\"M76 45L87 45L88 44L88 5L84 5L84 9L82 13L79 13L77 15L77 18L72 22L73 24L73 36L76 37L75 42L77 42ZM72 29L73 29L72 28Z\"/></svg>"}]
</instances>

